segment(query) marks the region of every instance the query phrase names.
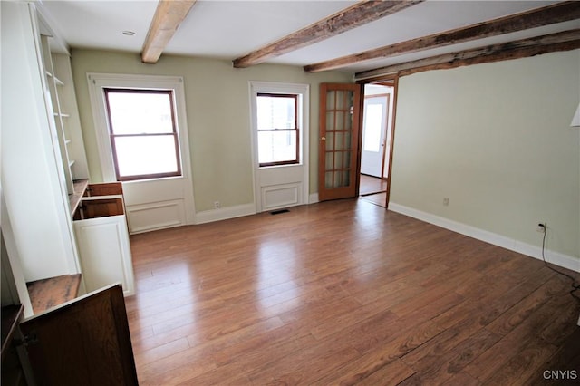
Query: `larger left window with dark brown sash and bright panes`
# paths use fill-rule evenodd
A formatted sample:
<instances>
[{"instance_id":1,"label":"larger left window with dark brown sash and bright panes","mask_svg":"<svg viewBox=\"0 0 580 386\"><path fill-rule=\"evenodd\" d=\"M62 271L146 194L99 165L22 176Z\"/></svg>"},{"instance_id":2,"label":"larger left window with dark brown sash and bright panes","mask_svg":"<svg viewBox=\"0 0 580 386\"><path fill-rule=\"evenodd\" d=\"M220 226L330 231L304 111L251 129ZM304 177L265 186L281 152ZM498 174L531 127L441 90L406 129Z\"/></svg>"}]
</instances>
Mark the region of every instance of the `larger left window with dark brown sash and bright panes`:
<instances>
[{"instance_id":1,"label":"larger left window with dark brown sash and bright panes","mask_svg":"<svg viewBox=\"0 0 580 386\"><path fill-rule=\"evenodd\" d=\"M181 176L173 91L103 92L117 180Z\"/></svg>"}]
</instances>

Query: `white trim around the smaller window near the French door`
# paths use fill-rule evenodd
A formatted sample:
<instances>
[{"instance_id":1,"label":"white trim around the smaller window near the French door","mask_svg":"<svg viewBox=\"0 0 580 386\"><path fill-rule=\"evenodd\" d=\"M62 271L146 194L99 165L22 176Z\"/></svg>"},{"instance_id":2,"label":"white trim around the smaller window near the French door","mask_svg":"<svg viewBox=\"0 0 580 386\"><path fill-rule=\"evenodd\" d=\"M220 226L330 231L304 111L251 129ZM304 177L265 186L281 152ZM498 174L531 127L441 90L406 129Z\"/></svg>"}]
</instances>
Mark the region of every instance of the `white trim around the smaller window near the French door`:
<instances>
[{"instance_id":1,"label":"white trim around the smaller window near the French door","mask_svg":"<svg viewBox=\"0 0 580 386\"><path fill-rule=\"evenodd\" d=\"M303 197L304 202L308 202L308 197L310 195L310 84L307 83L284 83L284 82L260 82L260 81L249 81L249 92L250 92L250 135L252 144L252 177L254 179L254 203L256 206L256 211L262 211L262 204L259 198L256 198L257 192L259 191L260 181L259 181L259 170L269 169L269 168L295 168L296 166L304 167L304 184L303 184ZM300 134L300 143L302 146L299 150L300 162L296 164L288 165L275 165L260 167L260 163L257 156L257 106L256 97L260 92L265 93L283 93L283 94L296 94L299 95L298 98L298 125Z\"/></svg>"}]
</instances>

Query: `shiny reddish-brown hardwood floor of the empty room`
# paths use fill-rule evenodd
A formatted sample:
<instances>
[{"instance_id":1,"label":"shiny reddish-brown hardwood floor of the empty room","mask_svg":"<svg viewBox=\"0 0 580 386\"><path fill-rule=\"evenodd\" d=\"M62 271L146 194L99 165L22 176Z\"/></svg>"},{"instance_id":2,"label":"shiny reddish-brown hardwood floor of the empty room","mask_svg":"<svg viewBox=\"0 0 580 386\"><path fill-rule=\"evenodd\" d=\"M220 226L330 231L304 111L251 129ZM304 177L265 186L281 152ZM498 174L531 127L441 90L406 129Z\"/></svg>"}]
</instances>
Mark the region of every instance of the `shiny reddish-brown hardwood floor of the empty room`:
<instances>
[{"instance_id":1,"label":"shiny reddish-brown hardwood floor of the empty room","mask_svg":"<svg viewBox=\"0 0 580 386\"><path fill-rule=\"evenodd\" d=\"M141 385L580 379L568 279L362 199L131 236L131 250Z\"/></svg>"}]
</instances>

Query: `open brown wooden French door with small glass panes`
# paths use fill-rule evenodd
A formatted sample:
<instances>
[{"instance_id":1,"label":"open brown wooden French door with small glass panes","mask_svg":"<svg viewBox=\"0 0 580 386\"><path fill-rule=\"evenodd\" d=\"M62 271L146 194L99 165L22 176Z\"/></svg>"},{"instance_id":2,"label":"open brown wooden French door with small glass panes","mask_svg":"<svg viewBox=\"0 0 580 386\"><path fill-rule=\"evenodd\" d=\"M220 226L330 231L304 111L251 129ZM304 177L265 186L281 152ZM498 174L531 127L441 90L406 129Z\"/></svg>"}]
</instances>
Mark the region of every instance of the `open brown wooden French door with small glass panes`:
<instances>
[{"instance_id":1,"label":"open brown wooden French door with small glass panes","mask_svg":"<svg viewBox=\"0 0 580 386\"><path fill-rule=\"evenodd\" d=\"M318 199L356 196L361 86L322 83Z\"/></svg>"}]
</instances>

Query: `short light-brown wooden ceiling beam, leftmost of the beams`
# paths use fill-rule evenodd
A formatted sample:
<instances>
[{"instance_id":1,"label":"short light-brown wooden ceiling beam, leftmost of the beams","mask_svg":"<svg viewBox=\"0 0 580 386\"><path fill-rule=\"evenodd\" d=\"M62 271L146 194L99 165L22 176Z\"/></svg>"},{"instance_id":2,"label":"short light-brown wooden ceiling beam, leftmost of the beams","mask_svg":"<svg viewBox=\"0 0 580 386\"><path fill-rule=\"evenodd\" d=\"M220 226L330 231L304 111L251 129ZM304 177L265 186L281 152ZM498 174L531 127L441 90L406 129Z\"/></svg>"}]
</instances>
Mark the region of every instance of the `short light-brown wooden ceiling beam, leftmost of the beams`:
<instances>
[{"instance_id":1,"label":"short light-brown wooden ceiling beam, leftmost of the beams","mask_svg":"<svg viewBox=\"0 0 580 386\"><path fill-rule=\"evenodd\" d=\"M179 24L197 0L160 0L143 44L141 61L157 63Z\"/></svg>"}]
</instances>

